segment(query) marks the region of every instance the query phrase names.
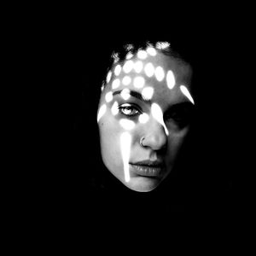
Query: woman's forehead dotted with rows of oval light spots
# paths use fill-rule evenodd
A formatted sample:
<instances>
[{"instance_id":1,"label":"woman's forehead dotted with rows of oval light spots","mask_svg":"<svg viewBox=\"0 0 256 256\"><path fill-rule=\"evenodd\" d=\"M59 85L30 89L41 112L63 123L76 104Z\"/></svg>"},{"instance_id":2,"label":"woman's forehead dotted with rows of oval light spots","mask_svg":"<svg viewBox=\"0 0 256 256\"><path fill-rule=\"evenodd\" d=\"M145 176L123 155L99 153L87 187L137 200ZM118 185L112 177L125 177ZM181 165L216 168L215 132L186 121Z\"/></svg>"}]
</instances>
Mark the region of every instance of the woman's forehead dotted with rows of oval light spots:
<instances>
[{"instance_id":1,"label":"woman's forehead dotted with rows of oval light spots","mask_svg":"<svg viewBox=\"0 0 256 256\"><path fill-rule=\"evenodd\" d=\"M142 92L146 87L154 89L154 100L175 101L182 97L180 85L185 85L188 89L191 84L192 68L188 63L177 59L171 55L164 55L157 52L156 55L131 56L128 60L113 64L107 76L106 91L137 90ZM168 84L168 76L172 74L172 83L175 84L170 90L170 79ZM141 84L140 84L141 83ZM168 88L169 87L169 88Z\"/></svg>"}]
</instances>

